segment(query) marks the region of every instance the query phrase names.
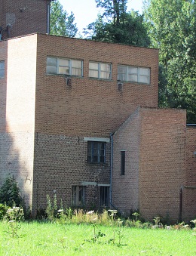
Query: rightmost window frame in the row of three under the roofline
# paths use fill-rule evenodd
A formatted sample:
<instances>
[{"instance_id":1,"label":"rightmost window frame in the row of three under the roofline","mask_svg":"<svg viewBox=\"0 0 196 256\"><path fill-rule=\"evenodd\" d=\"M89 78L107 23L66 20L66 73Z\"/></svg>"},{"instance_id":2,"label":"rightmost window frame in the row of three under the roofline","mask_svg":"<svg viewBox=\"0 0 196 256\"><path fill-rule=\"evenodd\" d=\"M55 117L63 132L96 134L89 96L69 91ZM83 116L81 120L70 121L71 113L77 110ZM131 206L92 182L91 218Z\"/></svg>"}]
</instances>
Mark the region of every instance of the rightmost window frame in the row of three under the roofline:
<instances>
[{"instance_id":1,"label":"rightmost window frame in the row of three under the roofline","mask_svg":"<svg viewBox=\"0 0 196 256\"><path fill-rule=\"evenodd\" d=\"M126 65L121 65L118 64L118 66L125 66L126 67L126 72L124 73L124 75L126 76L126 79L121 79L121 77L119 77L119 75L123 74L123 73L119 73L118 72L118 80L120 81L125 81L125 82L137 82L139 84L145 84L145 85L150 85L150 68L149 67L143 67L143 66L126 66ZM136 73L130 73L129 72L129 68L134 68L137 69ZM143 76L141 75L141 70L142 69L146 69L148 71L148 76ZM135 75L137 76L137 81L131 80L129 79L129 75ZM141 82L141 77L146 77L148 79L148 82Z\"/></svg>"}]
</instances>

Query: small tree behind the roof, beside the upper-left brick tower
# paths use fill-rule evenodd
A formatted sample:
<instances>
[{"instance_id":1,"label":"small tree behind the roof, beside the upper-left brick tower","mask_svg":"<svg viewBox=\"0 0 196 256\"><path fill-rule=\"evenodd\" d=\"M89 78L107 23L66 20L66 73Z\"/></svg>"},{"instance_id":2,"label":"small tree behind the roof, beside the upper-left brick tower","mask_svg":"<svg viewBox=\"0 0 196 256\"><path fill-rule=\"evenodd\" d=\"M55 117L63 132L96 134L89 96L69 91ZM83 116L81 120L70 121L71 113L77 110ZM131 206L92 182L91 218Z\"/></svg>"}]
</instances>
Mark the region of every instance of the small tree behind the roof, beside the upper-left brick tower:
<instances>
[{"instance_id":1,"label":"small tree behind the roof, beside the upper-left brick tower","mask_svg":"<svg viewBox=\"0 0 196 256\"><path fill-rule=\"evenodd\" d=\"M75 37L78 32L76 23L74 23L74 14L69 15L63 10L63 5L60 2L51 2L51 35L65 35L69 37Z\"/></svg>"}]
</instances>

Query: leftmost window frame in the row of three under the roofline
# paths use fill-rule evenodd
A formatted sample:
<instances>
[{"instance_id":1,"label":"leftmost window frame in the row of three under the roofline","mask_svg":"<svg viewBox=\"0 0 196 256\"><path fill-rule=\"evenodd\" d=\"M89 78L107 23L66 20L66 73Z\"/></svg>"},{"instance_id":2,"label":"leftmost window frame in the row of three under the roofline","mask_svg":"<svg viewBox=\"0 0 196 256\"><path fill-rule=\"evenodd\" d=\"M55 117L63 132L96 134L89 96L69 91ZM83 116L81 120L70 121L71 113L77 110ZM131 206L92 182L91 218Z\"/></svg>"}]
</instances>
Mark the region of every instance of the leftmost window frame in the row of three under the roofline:
<instances>
[{"instance_id":1,"label":"leftmost window frame in the row of three under the roofline","mask_svg":"<svg viewBox=\"0 0 196 256\"><path fill-rule=\"evenodd\" d=\"M47 75L60 75L60 76L75 76L75 77L83 77L83 60L78 60L78 59L69 59L69 58L63 58L63 57L51 57L51 56L47 56L47 60L48 59L54 59L54 60L57 60L57 65L55 66L56 67L56 72L47 72L47 66L53 66L53 65L47 65L47 62L46 62L46 73ZM68 65L61 65L60 64L60 60L68 60ZM81 67L80 68L77 68L75 66L72 65L72 62L73 61L78 61L78 62L81 62ZM60 67L68 67L69 69L69 73L66 74L66 73L62 73L62 72L59 72L59 69ZM73 69L78 69L78 70L81 70L81 75L73 75Z\"/></svg>"}]
</instances>

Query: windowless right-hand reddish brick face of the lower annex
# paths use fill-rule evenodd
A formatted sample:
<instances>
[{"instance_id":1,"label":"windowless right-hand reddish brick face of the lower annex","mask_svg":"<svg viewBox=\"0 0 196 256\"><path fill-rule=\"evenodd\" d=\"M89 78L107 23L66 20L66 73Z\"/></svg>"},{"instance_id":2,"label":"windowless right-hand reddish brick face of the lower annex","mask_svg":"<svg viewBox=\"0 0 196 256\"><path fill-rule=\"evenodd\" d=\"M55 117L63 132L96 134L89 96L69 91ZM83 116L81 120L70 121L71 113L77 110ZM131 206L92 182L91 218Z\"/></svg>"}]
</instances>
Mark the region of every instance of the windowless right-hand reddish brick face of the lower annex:
<instances>
[{"instance_id":1,"label":"windowless right-hand reddish brick face of the lower annex","mask_svg":"<svg viewBox=\"0 0 196 256\"><path fill-rule=\"evenodd\" d=\"M142 108L140 113L139 210L151 220L178 221L185 184L185 110Z\"/></svg>"}]
</instances>

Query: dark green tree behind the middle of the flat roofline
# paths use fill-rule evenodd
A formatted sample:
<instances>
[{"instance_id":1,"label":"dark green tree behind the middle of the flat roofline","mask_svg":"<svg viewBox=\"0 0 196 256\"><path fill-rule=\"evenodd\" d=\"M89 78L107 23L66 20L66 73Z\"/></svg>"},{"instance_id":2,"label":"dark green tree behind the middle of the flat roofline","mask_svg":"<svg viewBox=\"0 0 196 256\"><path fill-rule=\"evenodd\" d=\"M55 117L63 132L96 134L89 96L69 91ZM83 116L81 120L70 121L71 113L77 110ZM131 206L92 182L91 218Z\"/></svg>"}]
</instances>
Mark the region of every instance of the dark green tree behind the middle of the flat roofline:
<instances>
[{"instance_id":1,"label":"dark green tree behind the middle of the flat roofline","mask_svg":"<svg viewBox=\"0 0 196 256\"><path fill-rule=\"evenodd\" d=\"M149 45L143 15L136 11L127 13L127 0L96 0L96 6L104 11L84 29L87 39L126 45Z\"/></svg>"}]
</instances>

